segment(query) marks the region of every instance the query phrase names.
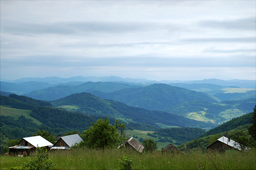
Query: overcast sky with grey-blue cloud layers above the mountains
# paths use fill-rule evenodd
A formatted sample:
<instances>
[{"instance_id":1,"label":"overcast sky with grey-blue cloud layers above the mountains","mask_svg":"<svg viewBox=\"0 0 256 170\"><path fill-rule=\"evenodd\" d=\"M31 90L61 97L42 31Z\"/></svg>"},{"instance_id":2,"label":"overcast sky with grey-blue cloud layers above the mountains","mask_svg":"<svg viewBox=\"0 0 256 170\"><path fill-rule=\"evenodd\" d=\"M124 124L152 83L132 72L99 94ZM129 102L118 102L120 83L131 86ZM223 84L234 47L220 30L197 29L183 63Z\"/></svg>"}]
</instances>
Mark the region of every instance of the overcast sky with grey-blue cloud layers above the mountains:
<instances>
[{"instance_id":1,"label":"overcast sky with grey-blue cloud layers above the mountains","mask_svg":"<svg viewBox=\"0 0 256 170\"><path fill-rule=\"evenodd\" d=\"M1 79L256 79L256 1L0 1Z\"/></svg>"}]
</instances>

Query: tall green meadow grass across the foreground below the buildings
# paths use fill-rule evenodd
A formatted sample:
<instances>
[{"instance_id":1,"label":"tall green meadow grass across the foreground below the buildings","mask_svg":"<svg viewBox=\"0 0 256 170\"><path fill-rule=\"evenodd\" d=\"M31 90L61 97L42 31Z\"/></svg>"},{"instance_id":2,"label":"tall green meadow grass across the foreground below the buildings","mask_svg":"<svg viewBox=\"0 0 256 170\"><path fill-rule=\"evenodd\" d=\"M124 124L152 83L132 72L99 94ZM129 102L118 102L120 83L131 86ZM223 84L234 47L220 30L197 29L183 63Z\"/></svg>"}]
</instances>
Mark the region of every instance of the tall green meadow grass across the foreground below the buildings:
<instances>
[{"instance_id":1,"label":"tall green meadow grass across the foreground below the buildings","mask_svg":"<svg viewBox=\"0 0 256 170\"><path fill-rule=\"evenodd\" d=\"M173 154L156 151L142 153L128 149L77 149L67 152L52 152L51 160L57 165L52 169L119 169L118 159L134 158L132 169L256 169L256 150L243 153L207 153L202 150L186 154ZM1 168L20 166L27 158L1 157ZM14 163L16 161L16 163ZM200 167L201 165L201 167Z\"/></svg>"}]
</instances>

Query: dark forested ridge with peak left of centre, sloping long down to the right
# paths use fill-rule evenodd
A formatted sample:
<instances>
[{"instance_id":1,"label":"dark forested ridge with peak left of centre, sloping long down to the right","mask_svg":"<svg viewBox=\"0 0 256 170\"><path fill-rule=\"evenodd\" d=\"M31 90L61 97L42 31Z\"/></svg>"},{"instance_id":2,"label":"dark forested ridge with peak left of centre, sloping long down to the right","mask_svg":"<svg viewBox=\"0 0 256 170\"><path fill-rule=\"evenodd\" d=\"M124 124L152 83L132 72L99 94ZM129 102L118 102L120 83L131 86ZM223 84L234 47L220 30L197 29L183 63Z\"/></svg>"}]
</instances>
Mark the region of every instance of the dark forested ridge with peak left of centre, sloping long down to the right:
<instances>
[{"instance_id":1,"label":"dark forested ridge with peak left of centre, sloping long down to the right","mask_svg":"<svg viewBox=\"0 0 256 170\"><path fill-rule=\"evenodd\" d=\"M89 93L71 94L51 102L53 106L73 105L76 112L97 115L108 115L120 119L128 119L139 123L151 124L158 127L155 123L166 124L179 127L215 127L215 124L200 122L184 118L183 116L169 114L161 111L150 111L142 108L128 106L114 100L103 100Z\"/></svg>"}]
</instances>

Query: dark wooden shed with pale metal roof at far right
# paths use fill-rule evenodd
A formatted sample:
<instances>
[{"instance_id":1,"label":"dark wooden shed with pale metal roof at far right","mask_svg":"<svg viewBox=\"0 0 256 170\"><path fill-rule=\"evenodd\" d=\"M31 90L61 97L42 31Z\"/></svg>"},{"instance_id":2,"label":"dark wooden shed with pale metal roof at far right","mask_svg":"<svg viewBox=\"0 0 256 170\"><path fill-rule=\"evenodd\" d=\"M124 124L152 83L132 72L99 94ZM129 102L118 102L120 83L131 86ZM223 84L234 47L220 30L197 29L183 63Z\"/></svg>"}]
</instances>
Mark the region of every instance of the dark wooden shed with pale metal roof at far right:
<instances>
[{"instance_id":1,"label":"dark wooden shed with pale metal roof at far right","mask_svg":"<svg viewBox=\"0 0 256 170\"><path fill-rule=\"evenodd\" d=\"M217 139L216 141L214 141L213 143L211 143L205 148L207 148L208 151L225 152L226 150L231 150L231 149L241 151L239 143L225 136L220 137L219 139Z\"/></svg>"}]
</instances>

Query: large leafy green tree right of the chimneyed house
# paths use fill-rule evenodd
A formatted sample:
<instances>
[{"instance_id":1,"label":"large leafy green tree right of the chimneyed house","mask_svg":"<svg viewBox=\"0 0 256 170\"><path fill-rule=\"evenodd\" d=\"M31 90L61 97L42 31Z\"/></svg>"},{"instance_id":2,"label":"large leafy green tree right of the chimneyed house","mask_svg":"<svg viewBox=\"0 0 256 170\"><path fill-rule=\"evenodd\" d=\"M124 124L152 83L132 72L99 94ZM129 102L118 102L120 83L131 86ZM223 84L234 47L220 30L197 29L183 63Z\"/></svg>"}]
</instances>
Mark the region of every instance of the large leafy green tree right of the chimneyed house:
<instances>
[{"instance_id":1,"label":"large leafy green tree right of the chimneyed house","mask_svg":"<svg viewBox=\"0 0 256 170\"><path fill-rule=\"evenodd\" d=\"M96 123L92 122L88 130L84 130L81 137L84 141L80 142L80 146L89 148L113 148L120 144L122 136L117 133L115 126L109 124L107 116L105 120L99 119Z\"/></svg>"}]
</instances>

